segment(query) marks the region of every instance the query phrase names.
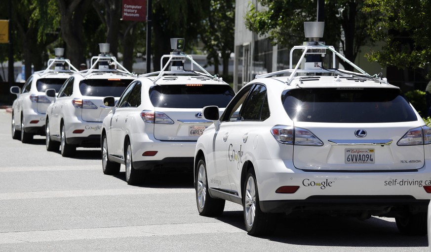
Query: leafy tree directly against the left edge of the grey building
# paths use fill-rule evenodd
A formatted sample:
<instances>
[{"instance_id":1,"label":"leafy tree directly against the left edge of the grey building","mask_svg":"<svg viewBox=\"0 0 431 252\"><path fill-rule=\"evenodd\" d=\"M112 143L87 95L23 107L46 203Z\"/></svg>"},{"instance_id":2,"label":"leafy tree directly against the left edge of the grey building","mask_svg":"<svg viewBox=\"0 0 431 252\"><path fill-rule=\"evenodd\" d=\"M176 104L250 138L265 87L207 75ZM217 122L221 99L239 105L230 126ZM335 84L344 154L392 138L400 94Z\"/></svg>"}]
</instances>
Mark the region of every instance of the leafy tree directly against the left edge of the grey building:
<instances>
[{"instance_id":1,"label":"leafy tree directly against the left edge of the grey building","mask_svg":"<svg viewBox=\"0 0 431 252\"><path fill-rule=\"evenodd\" d=\"M234 51L235 0L211 0L208 18L202 21L200 38L207 52L209 65L219 73L220 56L223 62L223 78L229 79L229 59ZM220 54L220 56L219 56Z\"/></svg>"}]
</instances>

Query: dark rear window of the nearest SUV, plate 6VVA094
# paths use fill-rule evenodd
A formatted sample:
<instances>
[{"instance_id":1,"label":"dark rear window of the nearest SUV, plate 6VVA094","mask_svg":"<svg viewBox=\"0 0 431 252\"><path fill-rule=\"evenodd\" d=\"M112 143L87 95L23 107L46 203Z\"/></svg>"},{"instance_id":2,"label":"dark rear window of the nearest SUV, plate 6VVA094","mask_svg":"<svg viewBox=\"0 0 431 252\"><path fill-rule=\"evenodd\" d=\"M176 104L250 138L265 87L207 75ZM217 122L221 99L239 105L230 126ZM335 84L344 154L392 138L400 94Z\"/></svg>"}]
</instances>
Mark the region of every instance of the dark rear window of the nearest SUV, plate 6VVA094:
<instances>
[{"instance_id":1,"label":"dark rear window of the nearest SUV, plate 6VVA094","mask_svg":"<svg viewBox=\"0 0 431 252\"><path fill-rule=\"evenodd\" d=\"M287 115L299 122L395 123L417 121L414 110L388 88L311 88L284 91Z\"/></svg>"}]
</instances>

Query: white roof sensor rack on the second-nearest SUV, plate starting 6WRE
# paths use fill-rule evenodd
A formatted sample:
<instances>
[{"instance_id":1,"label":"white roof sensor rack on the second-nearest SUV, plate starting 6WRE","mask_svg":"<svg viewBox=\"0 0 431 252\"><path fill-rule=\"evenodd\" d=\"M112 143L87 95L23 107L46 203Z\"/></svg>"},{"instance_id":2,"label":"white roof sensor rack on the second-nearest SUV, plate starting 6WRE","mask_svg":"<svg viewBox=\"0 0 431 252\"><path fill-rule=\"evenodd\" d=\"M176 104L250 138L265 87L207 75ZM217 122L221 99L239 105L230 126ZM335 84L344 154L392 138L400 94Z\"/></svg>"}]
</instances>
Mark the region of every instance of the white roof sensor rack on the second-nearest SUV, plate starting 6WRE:
<instances>
[{"instance_id":1,"label":"white roof sensor rack on the second-nearest SUV, plate starting 6WRE","mask_svg":"<svg viewBox=\"0 0 431 252\"><path fill-rule=\"evenodd\" d=\"M163 55L160 58L160 71L140 74L141 77L148 77L157 75L157 77L153 80L155 84L157 80L159 80L163 75L200 75L208 77L212 80L223 81L221 77L216 75L211 75L208 71L205 70L202 66L196 63L191 55L186 55L182 52L184 49L184 38L171 38L171 49L172 52L169 55ZM167 63L163 66L163 59L168 59ZM190 61L190 71L184 70L184 63L186 60ZM202 72L198 72L193 70L193 66L196 65L199 70ZM170 66L170 70L166 70Z\"/></svg>"}]
</instances>

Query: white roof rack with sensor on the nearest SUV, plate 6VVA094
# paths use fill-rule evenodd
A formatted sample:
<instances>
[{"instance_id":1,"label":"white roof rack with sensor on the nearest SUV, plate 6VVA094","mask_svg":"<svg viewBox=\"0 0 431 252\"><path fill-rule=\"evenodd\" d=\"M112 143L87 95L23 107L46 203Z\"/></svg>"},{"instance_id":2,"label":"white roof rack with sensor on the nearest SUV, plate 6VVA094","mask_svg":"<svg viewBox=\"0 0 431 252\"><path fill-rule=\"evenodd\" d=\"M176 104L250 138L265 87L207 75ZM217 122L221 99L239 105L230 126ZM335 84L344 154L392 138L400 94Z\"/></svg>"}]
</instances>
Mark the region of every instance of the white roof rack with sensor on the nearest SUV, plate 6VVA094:
<instances>
[{"instance_id":1,"label":"white roof rack with sensor on the nearest SUV, plate 6VVA094","mask_svg":"<svg viewBox=\"0 0 431 252\"><path fill-rule=\"evenodd\" d=\"M365 77L367 79L373 79L381 83L387 83L386 78L379 78L379 75L377 74L375 75L368 74L367 72L362 70L359 66L355 65L354 63L346 59L346 57L338 53L333 46L327 46L325 45L325 42L319 41L319 39L323 37L323 30L324 30L324 22L304 22L305 37L308 38L309 41L304 42L303 45L292 47L292 49L290 50L290 57L289 57L289 69L284 69L284 70L265 73L265 74L258 74L256 75L256 78L265 78L265 77L271 77L274 75L290 73L286 81L286 84L290 84L293 78L299 73L330 72L330 73L336 74L337 76ZM302 55L298 60L298 62L296 63L295 67L293 68L293 65L292 65L293 52L295 50L302 50ZM331 69L325 69L322 66L322 57L326 55L326 50L329 50L332 52ZM338 56L341 60L353 66L353 68L359 71L359 73L337 69L335 56ZM305 63L303 63L304 60L305 60ZM301 69L300 66L302 63L303 63L303 68Z\"/></svg>"}]
</instances>

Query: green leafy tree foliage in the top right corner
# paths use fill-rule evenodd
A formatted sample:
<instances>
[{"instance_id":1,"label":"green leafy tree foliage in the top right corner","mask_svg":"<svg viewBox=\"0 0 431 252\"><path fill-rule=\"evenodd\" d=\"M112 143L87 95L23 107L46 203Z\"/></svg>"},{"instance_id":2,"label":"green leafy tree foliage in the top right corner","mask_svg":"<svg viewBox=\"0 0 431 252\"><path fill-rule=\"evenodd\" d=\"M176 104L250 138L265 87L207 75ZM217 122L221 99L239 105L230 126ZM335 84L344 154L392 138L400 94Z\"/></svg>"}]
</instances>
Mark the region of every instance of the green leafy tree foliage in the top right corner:
<instances>
[{"instance_id":1,"label":"green leafy tree foliage in the top right corner","mask_svg":"<svg viewBox=\"0 0 431 252\"><path fill-rule=\"evenodd\" d=\"M431 1L365 0L365 10L379 13L371 29L373 39L384 41L381 50L367 55L369 61L399 69L425 69L431 78Z\"/></svg>"}]
</instances>

